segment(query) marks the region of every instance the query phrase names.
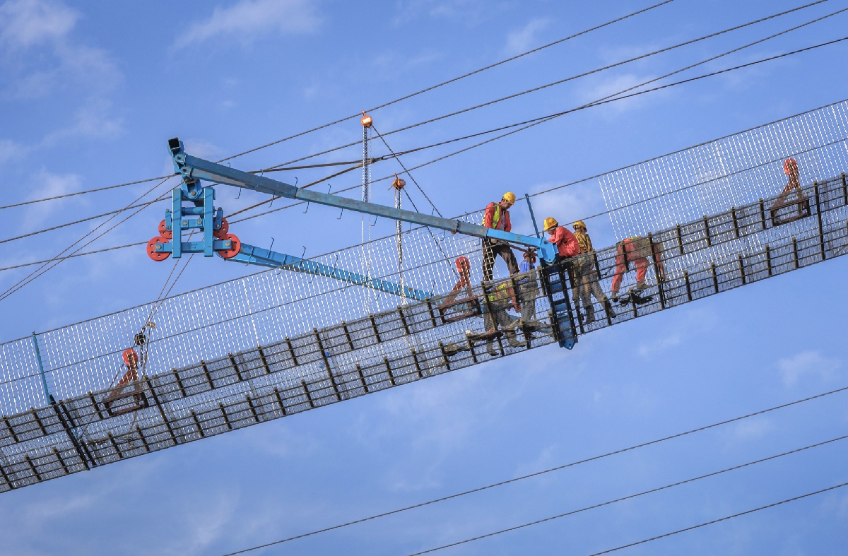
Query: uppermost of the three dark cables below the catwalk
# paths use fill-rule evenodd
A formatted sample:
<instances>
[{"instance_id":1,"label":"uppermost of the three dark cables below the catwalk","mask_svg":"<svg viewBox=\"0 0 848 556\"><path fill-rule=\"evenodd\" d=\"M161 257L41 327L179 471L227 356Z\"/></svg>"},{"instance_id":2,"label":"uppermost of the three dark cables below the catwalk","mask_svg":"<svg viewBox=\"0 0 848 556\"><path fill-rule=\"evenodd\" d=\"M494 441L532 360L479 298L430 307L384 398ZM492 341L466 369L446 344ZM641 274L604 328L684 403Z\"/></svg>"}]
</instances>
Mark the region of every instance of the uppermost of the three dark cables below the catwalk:
<instances>
[{"instance_id":1,"label":"uppermost of the three dark cables below the catwalk","mask_svg":"<svg viewBox=\"0 0 848 556\"><path fill-rule=\"evenodd\" d=\"M645 448L645 447L648 447L648 446L651 446L651 445L654 445L654 444L659 444L661 442L667 442L667 441L673 440L675 438L680 438L680 437L683 437L683 436L689 436L691 434L695 434L696 432L708 431L710 429L713 429L713 428L716 428L716 427L719 427L719 426L722 426L722 425L729 425L731 423L735 423L735 422L740 421L740 420L750 419L751 417L756 417L758 415L767 414L767 413L770 413L770 412L773 412L773 411L777 411L778 409L786 409L786 408L792 407L794 405L798 405L800 403L810 402L810 401L815 400L815 399L824 398L826 396L830 396L830 395L833 395L833 394L836 394L836 393L846 392L846 391L848 391L848 386L838 388L836 390L831 390L829 392L823 392L821 394L817 394L817 395L811 396L809 398L801 398L799 400L795 400L794 402L776 405L772 408L762 409L762 410L756 411L754 413L740 415L739 417L734 417L733 419L722 420L722 421L719 421L717 423L713 423L712 425L700 426L698 428L691 429L689 431L678 432L677 434L673 434L671 436L663 436L661 438L657 438L656 440L651 440L649 442L642 442L640 444L634 444L633 446L630 446L628 448L621 448L621 449L615 450L613 452L603 453L603 454L600 454L600 455L597 455L597 456L593 456L591 458L580 459L580 460L574 461L570 464L558 465L556 467L551 467L550 469L537 471L535 473L530 473L528 475L522 475L522 476L516 477L514 479L508 479L506 481L495 482L495 483L492 483L490 485L486 485L485 487L477 487L477 488L473 488L471 490L467 490L467 491L464 491L464 492L457 492L455 494L451 494L449 496L445 496L445 497L442 497L442 498L435 498L435 499L429 500L427 502L417 503L417 504L414 504L414 505L411 505L411 506L406 506L405 508L393 509L393 510L388 511L388 512L383 512L382 514L375 514L375 515L371 515L369 517L361 518L359 520L348 521L346 523L342 523L342 524L339 524L339 525L332 525L331 527L325 527L323 529L319 529L319 530L316 530L316 531L310 531L308 533L303 533L303 534L297 535L295 537L284 538L280 541L268 542L268 543L265 543L263 545L259 545L259 546L253 547L253 548L246 548L246 549L240 550L238 552L225 554L225 556L235 556L235 554L247 553L247 552L250 552L252 550L258 550L259 548L266 548L266 547L274 546L276 544L281 544L282 542L289 542L289 541L294 541L296 539L300 539L300 538L304 538L304 537L311 537L313 535L318 535L318 534L324 533L326 531L334 531L336 529L341 529L342 527L347 527L349 525L356 525L356 524L359 524L359 523L364 523L365 521L377 520L378 518L382 518L382 517L385 517L387 515L399 514L401 512L405 512L405 511L408 511L410 509L421 508L423 506L428 506L430 504L444 502L445 500L450 500L450 499L453 499L453 498L460 498L462 496L466 496L467 494L472 494L474 492L482 492L482 491L488 490L490 488L502 487L504 485L508 485L510 483L513 483L513 482L523 481L525 479L530 479L532 477L537 477L539 475L544 475L546 473L551 473L553 471L563 470L563 469L566 469L568 467L574 467L574 466L579 465L579 464L586 464L586 463L589 463L591 461L595 461L595 460L598 460L598 459L609 458L611 456L614 456L614 455L617 455L617 454L620 454L620 453L626 453L626 452L630 452L630 451L633 451L633 450L637 450L639 448ZM828 442L834 442L834 441L828 441Z\"/></svg>"}]
</instances>

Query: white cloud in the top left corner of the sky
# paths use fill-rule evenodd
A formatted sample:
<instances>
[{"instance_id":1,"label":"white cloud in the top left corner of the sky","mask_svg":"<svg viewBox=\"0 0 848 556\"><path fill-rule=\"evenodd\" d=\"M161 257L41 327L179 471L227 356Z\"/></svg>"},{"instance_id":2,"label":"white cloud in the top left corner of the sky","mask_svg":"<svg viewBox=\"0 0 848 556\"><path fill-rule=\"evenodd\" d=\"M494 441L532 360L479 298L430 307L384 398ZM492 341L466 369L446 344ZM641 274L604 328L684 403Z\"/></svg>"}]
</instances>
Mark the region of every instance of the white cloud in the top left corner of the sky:
<instances>
[{"instance_id":1,"label":"white cloud in the top left corner of the sky","mask_svg":"<svg viewBox=\"0 0 848 556\"><path fill-rule=\"evenodd\" d=\"M78 18L61 3L10 1L0 6L0 44L14 50L56 41L73 29Z\"/></svg>"}]
</instances>

